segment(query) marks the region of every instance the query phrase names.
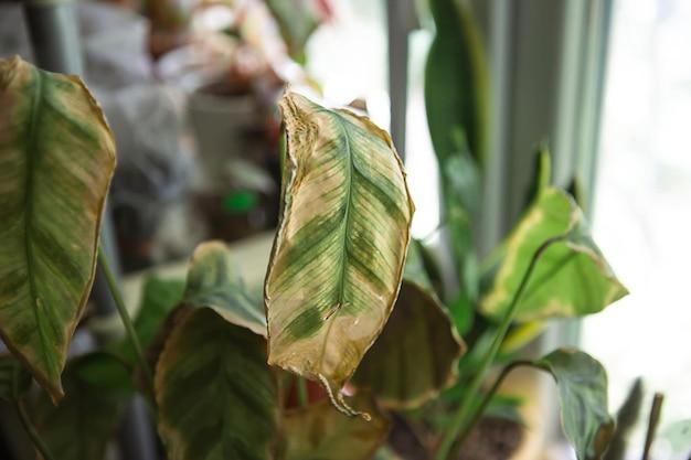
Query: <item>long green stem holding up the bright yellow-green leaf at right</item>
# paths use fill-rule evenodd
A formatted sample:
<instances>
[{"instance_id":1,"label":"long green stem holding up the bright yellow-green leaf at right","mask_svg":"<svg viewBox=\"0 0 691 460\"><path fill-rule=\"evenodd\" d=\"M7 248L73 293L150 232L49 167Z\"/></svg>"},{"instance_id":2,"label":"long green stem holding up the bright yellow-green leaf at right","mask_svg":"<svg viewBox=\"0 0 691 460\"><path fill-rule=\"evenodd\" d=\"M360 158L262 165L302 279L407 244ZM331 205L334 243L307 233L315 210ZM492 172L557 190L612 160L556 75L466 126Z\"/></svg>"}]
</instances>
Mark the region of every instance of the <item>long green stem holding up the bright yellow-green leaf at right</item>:
<instances>
[{"instance_id":1,"label":"long green stem holding up the bright yellow-green leaf at right","mask_svg":"<svg viewBox=\"0 0 691 460\"><path fill-rule=\"evenodd\" d=\"M504 336L507 335L507 332L509 331L509 327L511 325L511 322L513 321L513 317L515 315L515 311L519 306L519 300L521 299L521 296L523 295L523 291L525 290L525 286L528 285L528 281L530 280L530 276L535 269L535 265L538 260L540 259L542 254L544 254L548 247L550 247L554 243L565 239L567 236L568 234L563 234L563 235L557 235L552 238L549 238L548 240L542 243L540 247L538 247L538 249L533 254L533 257L531 258L530 264L528 265L528 269L525 270L525 274L523 275L523 278L521 279L520 285L518 289L515 290L515 293L513 295L513 299L511 299L509 309L507 310L507 313L504 314L504 317L501 319L501 323L499 324L499 328L497 329L495 340L492 341L491 346L487 351L487 354L485 354L485 356L482 357L478 372L475 374L472 381L470 382L470 387L468 388L468 393L464 397L464 400L461 402L461 405L458 408L458 411L451 418L449 429L444 434L444 437L442 438L442 442L439 443L439 447L437 449L435 460L451 459L451 453L453 453L451 448L456 443L455 441L458 438L458 434L461 431L464 426L467 424L467 420L472 415L474 408L476 407L476 405L472 404L472 402L477 399L478 393L485 379L485 375L487 374L487 371L493 363L495 357L497 356L497 353L499 352L499 347L501 346L501 343ZM481 413L477 414L477 418L479 418L480 415ZM460 448L459 443L456 443L456 446L457 446L456 449Z\"/></svg>"}]
</instances>

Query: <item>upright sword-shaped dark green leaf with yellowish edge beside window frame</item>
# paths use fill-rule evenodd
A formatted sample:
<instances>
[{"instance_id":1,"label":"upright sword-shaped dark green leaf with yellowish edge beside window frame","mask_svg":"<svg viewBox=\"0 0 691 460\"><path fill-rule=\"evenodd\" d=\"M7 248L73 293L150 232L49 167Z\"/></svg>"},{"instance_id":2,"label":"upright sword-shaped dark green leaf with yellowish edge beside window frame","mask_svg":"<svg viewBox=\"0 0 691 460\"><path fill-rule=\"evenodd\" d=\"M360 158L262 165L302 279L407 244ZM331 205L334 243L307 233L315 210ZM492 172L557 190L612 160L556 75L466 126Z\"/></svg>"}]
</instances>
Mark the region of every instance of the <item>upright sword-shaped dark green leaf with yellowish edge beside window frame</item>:
<instances>
[{"instance_id":1,"label":"upright sword-shaped dark green leaf with yellowish edge beside window frame","mask_svg":"<svg viewBox=\"0 0 691 460\"><path fill-rule=\"evenodd\" d=\"M436 34L425 66L425 106L434 150L444 160L456 151L454 130L468 137L478 164L487 154L487 63L480 34L466 3L430 0Z\"/></svg>"}]
</instances>

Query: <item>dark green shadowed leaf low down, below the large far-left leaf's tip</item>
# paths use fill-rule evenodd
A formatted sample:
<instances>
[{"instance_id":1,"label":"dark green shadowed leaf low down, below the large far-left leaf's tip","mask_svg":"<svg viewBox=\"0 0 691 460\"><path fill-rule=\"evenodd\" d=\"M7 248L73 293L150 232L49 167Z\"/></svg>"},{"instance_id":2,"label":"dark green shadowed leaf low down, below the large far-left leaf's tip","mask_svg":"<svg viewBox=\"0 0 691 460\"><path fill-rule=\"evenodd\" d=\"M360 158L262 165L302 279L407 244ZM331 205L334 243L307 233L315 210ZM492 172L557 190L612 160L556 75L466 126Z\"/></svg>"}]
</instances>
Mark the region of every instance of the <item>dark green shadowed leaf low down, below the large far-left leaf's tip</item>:
<instances>
[{"instance_id":1,"label":"dark green shadowed leaf low down, below the large far-left leaf's tip","mask_svg":"<svg viewBox=\"0 0 691 460\"><path fill-rule=\"evenodd\" d=\"M134 388L128 368L111 355L92 353L67 364L65 397L41 394L33 418L55 460L102 460Z\"/></svg>"}]
</instances>

